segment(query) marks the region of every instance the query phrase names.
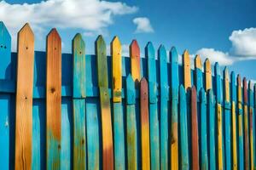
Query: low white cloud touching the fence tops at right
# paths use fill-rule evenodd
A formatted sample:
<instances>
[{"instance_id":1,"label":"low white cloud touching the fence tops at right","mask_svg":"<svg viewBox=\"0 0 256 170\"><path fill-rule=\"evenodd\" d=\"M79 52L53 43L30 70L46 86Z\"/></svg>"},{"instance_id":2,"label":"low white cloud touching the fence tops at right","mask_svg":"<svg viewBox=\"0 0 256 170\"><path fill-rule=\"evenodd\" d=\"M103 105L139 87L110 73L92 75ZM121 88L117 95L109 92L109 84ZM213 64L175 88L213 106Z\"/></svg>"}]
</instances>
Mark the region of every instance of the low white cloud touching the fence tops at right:
<instances>
[{"instance_id":1,"label":"low white cloud touching the fence tops at right","mask_svg":"<svg viewBox=\"0 0 256 170\"><path fill-rule=\"evenodd\" d=\"M230 56L230 54L213 48L201 48L196 54L199 54L202 60L210 59L212 64L218 62L219 65L232 65L236 60L236 58Z\"/></svg>"}]
</instances>

